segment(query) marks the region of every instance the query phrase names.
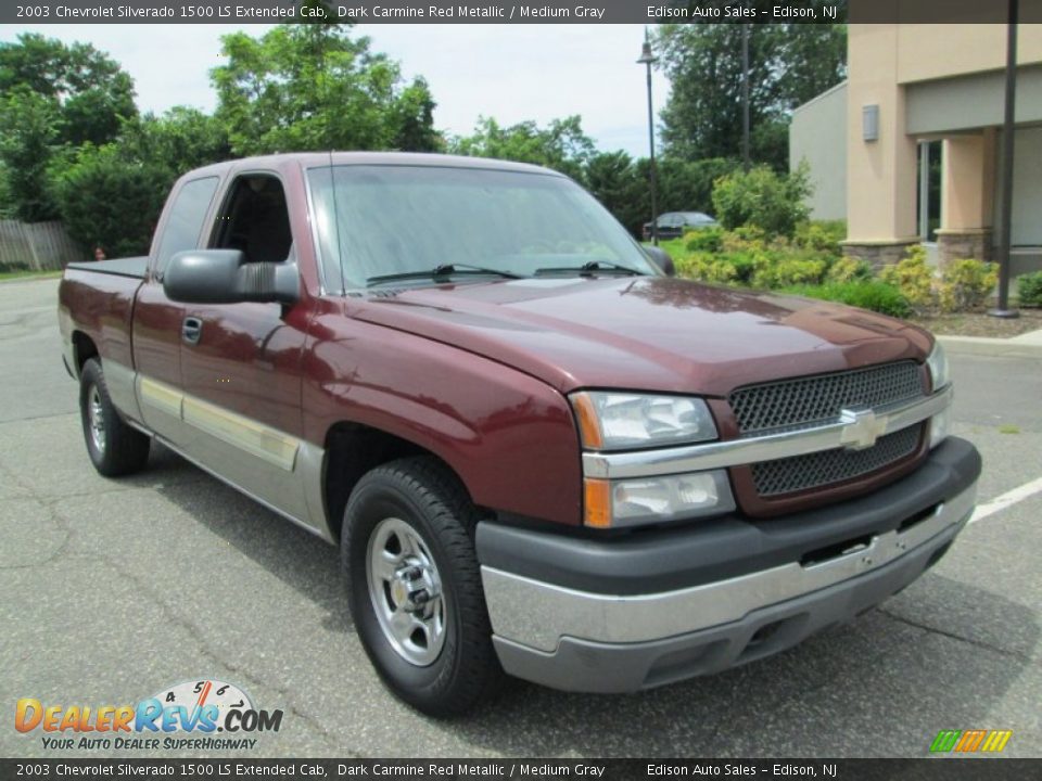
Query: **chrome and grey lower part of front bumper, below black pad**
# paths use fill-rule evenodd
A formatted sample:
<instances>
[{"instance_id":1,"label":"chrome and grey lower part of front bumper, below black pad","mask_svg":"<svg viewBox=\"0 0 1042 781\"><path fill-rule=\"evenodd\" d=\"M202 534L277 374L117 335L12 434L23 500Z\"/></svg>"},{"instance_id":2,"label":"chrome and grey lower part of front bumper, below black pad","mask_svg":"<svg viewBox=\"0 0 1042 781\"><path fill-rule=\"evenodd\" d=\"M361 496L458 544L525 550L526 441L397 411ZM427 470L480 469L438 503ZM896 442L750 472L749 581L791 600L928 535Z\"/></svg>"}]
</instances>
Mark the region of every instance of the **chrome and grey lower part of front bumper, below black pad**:
<instances>
[{"instance_id":1,"label":"chrome and grey lower part of front bumper, below black pad","mask_svg":"<svg viewBox=\"0 0 1042 781\"><path fill-rule=\"evenodd\" d=\"M635 691L744 664L918 578L969 520L976 489L975 475L927 515L825 561L658 593L594 593L483 565L493 640L511 675L573 691Z\"/></svg>"}]
</instances>

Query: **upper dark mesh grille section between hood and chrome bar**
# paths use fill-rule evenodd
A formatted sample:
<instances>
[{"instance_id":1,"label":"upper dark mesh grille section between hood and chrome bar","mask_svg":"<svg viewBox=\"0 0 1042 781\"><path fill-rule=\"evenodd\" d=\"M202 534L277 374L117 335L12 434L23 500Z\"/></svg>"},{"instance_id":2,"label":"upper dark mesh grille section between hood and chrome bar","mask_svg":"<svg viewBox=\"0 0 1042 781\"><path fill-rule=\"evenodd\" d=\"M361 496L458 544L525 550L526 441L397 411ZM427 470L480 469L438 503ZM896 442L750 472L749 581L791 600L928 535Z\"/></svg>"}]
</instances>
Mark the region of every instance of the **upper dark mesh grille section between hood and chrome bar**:
<instances>
[{"instance_id":1,"label":"upper dark mesh grille section between hood and chrome bar","mask_svg":"<svg viewBox=\"0 0 1042 781\"><path fill-rule=\"evenodd\" d=\"M728 397L744 434L808 425L839 417L843 408L875 409L923 395L913 361L818 374L738 388Z\"/></svg>"}]
</instances>

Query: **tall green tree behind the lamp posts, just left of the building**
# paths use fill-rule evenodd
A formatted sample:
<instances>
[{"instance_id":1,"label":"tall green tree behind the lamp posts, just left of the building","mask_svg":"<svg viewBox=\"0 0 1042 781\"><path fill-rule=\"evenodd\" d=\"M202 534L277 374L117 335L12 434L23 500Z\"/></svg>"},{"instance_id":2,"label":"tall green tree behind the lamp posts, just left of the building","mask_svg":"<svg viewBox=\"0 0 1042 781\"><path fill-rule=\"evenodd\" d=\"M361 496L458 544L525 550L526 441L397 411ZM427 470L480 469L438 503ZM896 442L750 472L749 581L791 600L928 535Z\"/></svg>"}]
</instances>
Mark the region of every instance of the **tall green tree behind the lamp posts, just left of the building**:
<instances>
[{"instance_id":1,"label":"tall green tree behind the lamp posts, just left of the building","mask_svg":"<svg viewBox=\"0 0 1042 781\"><path fill-rule=\"evenodd\" d=\"M764 10L772 4L753 3ZM840 11L846 18L846 3ZM684 159L741 155L744 27L749 34L750 156L785 170L792 108L846 76L844 24L662 25L656 43L671 81L661 114L665 152Z\"/></svg>"}]
</instances>

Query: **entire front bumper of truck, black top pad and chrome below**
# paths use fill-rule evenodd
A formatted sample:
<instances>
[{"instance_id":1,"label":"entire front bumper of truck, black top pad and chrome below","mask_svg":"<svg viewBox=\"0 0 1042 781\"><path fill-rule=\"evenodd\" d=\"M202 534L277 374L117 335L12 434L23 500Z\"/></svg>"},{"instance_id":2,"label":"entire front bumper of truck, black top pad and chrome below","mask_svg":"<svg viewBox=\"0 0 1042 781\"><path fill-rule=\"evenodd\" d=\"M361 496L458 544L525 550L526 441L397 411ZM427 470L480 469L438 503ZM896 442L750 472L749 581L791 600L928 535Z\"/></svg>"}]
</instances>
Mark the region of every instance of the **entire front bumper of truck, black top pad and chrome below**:
<instances>
[{"instance_id":1,"label":"entire front bumper of truck, black top pad and chrome below","mask_svg":"<svg viewBox=\"0 0 1042 781\"><path fill-rule=\"evenodd\" d=\"M590 540L483 523L499 660L571 691L626 692L771 655L919 577L965 526L980 457L961 439L872 496Z\"/></svg>"}]
</instances>

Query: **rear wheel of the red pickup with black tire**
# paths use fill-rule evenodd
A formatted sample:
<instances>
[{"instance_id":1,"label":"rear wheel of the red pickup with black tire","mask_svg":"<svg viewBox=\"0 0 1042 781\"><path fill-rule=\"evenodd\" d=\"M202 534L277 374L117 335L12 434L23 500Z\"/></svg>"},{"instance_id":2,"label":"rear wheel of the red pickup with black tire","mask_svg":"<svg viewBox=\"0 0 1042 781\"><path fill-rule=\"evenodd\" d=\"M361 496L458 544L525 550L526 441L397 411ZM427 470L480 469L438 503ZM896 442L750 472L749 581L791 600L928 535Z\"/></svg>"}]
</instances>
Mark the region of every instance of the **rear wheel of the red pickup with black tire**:
<instances>
[{"instance_id":1,"label":"rear wheel of the red pickup with black tire","mask_svg":"<svg viewBox=\"0 0 1042 781\"><path fill-rule=\"evenodd\" d=\"M118 477L144 469L152 439L124 423L112 405L97 358L88 360L79 374L79 417L87 454L98 472L105 477ZM99 420L100 428L96 430Z\"/></svg>"}]
</instances>

